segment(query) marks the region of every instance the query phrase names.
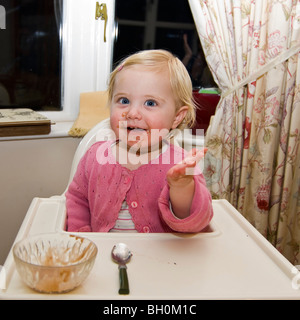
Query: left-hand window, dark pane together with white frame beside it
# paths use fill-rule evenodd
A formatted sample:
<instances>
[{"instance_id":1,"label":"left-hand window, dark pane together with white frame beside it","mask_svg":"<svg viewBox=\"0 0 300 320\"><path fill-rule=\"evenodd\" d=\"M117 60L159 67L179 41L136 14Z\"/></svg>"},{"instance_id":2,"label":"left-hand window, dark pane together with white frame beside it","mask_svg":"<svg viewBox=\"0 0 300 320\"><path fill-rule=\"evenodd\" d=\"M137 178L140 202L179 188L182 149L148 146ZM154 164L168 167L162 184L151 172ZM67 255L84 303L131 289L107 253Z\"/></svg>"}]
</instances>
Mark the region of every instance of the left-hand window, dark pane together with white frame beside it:
<instances>
[{"instance_id":1,"label":"left-hand window, dark pane together with white frame beside it","mask_svg":"<svg viewBox=\"0 0 300 320\"><path fill-rule=\"evenodd\" d=\"M81 92L106 89L115 1L105 3L106 42L95 0L1 1L0 109L27 107L73 121Z\"/></svg>"}]
</instances>

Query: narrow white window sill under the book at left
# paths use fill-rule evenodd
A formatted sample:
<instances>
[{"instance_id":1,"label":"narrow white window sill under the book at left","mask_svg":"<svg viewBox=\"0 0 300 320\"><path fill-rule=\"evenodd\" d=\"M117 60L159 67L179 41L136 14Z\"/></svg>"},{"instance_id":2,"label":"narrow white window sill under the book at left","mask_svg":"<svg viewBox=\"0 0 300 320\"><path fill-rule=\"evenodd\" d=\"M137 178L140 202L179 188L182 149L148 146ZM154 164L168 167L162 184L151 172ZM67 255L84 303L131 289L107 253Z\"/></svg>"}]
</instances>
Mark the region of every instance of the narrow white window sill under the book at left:
<instances>
[{"instance_id":1,"label":"narrow white window sill under the book at left","mask_svg":"<svg viewBox=\"0 0 300 320\"><path fill-rule=\"evenodd\" d=\"M56 121L55 123L51 124L51 132L49 134L30 135L30 136L0 137L0 141L52 139L52 138L70 137L68 132L71 129L73 123L74 123L74 121Z\"/></svg>"}]
</instances>

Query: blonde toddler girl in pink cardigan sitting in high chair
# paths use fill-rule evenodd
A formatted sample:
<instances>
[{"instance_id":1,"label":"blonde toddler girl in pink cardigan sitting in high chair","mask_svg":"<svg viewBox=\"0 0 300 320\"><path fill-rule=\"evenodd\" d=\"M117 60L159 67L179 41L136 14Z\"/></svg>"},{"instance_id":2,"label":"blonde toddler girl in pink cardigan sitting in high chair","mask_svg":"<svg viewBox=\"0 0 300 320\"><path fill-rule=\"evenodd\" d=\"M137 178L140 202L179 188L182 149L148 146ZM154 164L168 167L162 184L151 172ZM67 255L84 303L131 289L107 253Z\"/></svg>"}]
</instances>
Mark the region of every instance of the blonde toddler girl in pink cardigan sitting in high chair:
<instances>
[{"instance_id":1,"label":"blonde toddler girl in pink cardigan sitting in high chair","mask_svg":"<svg viewBox=\"0 0 300 320\"><path fill-rule=\"evenodd\" d=\"M116 139L96 142L81 159L66 192L67 230L201 231L213 215L196 167L204 152L169 143L172 130L195 120L184 65L164 50L133 54L112 72L108 100Z\"/></svg>"}]
</instances>

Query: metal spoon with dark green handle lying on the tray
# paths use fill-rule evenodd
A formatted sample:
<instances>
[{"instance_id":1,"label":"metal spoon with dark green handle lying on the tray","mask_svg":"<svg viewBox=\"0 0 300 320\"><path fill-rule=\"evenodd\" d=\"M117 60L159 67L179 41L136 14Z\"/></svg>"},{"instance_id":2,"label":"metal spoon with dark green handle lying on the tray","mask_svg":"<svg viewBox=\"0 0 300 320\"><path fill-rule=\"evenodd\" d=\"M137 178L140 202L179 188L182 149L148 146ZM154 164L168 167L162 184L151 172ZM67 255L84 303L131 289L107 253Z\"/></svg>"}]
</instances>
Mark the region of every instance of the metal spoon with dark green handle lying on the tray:
<instances>
[{"instance_id":1,"label":"metal spoon with dark green handle lying on the tray","mask_svg":"<svg viewBox=\"0 0 300 320\"><path fill-rule=\"evenodd\" d=\"M119 294L129 294L126 263L129 262L132 253L125 243L118 243L111 251L112 259L119 264L120 289Z\"/></svg>"}]
</instances>

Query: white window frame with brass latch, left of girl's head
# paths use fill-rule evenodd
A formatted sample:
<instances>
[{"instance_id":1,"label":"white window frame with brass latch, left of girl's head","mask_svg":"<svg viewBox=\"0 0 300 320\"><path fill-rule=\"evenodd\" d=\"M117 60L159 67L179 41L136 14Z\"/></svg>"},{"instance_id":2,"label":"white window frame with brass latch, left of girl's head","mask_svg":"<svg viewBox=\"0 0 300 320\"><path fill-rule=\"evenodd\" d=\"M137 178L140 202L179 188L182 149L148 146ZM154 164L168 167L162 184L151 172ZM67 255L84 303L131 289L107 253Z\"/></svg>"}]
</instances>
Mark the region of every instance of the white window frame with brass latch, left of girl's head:
<instances>
[{"instance_id":1,"label":"white window frame with brass latch, left of girl's head","mask_svg":"<svg viewBox=\"0 0 300 320\"><path fill-rule=\"evenodd\" d=\"M115 0L99 1L107 7L106 42L104 20L95 19L96 0L64 0L62 39L61 111L40 112L52 121L74 121L82 92L107 89L112 68Z\"/></svg>"}]
</instances>

